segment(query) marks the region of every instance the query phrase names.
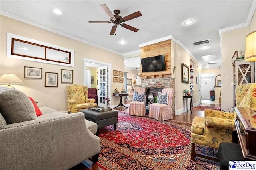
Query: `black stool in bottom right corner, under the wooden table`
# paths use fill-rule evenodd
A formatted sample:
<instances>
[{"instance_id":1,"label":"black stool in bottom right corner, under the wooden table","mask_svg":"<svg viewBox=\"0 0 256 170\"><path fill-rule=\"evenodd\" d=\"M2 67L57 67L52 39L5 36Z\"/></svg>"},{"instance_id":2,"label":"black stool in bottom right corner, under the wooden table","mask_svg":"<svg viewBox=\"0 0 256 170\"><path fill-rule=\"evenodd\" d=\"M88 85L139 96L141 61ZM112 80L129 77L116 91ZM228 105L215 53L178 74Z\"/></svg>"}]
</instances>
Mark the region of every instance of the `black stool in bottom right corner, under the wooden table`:
<instances>
[{"instance_id":1,"label":"black stool in bottom right corner, under the wooden table","mask_svg":"<svg viewBox=\"0 0 256 170\"><path fill-rule=\"evenodd\" d=\"M229 170L230 160L244 160L240 145L228 142L220 143L217 158L221 170Z\"/></svg>"}]
</instances>

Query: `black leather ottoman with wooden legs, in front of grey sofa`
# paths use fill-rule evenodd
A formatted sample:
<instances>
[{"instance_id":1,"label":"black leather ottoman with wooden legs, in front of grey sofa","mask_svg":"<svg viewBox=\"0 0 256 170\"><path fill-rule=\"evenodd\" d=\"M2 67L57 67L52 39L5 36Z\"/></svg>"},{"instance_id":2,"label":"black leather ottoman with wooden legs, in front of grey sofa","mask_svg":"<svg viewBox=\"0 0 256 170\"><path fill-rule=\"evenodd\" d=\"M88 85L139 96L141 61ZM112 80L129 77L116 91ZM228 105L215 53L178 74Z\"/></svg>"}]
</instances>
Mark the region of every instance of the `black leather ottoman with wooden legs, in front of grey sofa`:
<instances>
[{"instance_id":1,"label":"black leather ottoman with wooden legs, in front of grey sofa","mask_svg":"<svg viewBox=\"0 0 256 170\"><path fill-rule=\"evenodd\" d=\"M98 131L96 135L99 134L99 129L108 125L114 125L114 130L116 130L117 116L118 112L114 110L110 111L92 111L88 109L81 110L80 112L84 113L84 118L86 120L97 123Z\"/></svg>"}]
</instances>

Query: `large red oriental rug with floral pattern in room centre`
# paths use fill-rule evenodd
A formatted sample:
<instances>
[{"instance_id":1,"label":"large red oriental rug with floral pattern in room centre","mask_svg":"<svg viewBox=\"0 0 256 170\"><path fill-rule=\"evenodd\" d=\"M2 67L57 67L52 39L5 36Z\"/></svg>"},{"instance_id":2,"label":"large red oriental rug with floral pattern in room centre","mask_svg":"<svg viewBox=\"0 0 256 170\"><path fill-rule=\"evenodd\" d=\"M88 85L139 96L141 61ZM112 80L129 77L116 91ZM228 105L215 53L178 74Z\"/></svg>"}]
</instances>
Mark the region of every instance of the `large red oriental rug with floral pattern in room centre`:
<instances>
[{"instance_id":1,"label":"large red oriental rug with floral pattern in room centre","mask_svg":"<svg viewBox=\"0 0 256 170\"><path fill-rule=\"evenodd\" d=\"M96 163L104 170L219 170L216 162L191 158L191 123L156 121L118 111L113 126L100 129L101 152ZM196 152L216 155L216 149L197 146Z\"/></svg>"}]
</instances>

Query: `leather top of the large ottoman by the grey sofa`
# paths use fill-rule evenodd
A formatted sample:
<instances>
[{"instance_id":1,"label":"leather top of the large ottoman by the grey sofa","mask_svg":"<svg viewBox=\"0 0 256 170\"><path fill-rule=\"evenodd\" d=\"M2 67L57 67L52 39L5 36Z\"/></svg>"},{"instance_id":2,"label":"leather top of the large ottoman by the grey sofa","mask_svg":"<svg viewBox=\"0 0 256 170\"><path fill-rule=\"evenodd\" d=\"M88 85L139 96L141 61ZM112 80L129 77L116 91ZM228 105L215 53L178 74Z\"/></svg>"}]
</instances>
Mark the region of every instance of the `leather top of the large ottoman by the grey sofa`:
<instances>
[{"instance_id":1,"label":"leather top of the large ottoman by the grey sofa","mask_svg":"<svg viewBox=\"0 0 256 170\"><path fill-rule=\"evenodd\" d=\"M84 117L86 119L91 119L91 120L94 120L94 121L99 121L99 120L102 120L102 119L108 119L108 118L111 118L111 117L117 117L118 116L118 112L114 111L114 110L98 112L98 111L92 111L92 110L84 109L84 110L81 110L80 112L84 113Z\"/></svg>"}]
</instances>

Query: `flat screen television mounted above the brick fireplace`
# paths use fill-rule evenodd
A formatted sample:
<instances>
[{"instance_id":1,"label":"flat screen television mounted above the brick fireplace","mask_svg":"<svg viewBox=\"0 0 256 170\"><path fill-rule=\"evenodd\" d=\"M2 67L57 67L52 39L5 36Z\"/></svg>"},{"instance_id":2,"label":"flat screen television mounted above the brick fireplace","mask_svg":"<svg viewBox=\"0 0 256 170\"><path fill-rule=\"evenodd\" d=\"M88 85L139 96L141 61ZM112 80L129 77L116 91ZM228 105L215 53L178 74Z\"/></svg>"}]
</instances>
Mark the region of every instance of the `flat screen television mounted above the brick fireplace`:
<instances>
[{"instance_id":1,"label":"flat screen television mounted above the brick fireplace","mask_svg":"<svg viewBox=\"0 0 256 170\"><path fill-rule=\"evenodd\" d=\"M164 55L147 57L141 60L142 72L165 71Z\"/></svg>"}]
</instances>

